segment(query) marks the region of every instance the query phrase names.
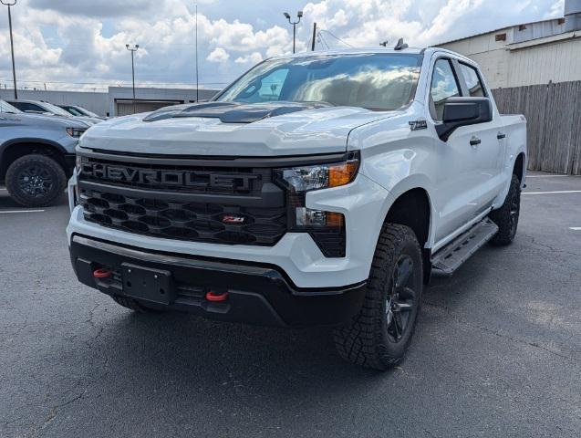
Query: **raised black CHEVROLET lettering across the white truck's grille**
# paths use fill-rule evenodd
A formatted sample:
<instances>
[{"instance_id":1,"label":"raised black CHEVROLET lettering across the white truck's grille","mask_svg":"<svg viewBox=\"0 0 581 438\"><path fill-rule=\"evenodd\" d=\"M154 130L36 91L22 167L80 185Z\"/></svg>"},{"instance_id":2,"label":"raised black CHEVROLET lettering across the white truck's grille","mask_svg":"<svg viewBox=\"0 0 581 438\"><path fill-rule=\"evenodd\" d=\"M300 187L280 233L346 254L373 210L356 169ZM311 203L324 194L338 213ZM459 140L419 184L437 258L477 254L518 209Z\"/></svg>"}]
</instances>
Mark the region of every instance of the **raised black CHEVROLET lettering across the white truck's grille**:
<instances>
[{"instance_id":1,"label":"raised black CHEVROLET lettering across the white truck's grille","mask_svg":"<svg viewBox=\"0 0 581 438\"><path fill-rule=\"evenodd\" d=\"M260 175L215 173L202 171L165 171L85 162L81 175L119 183L138 183L150 186L173 185L197 188L251 190L252 182ZM201 181L202 180L202 181Z\"/></svg>"}]
</instances>

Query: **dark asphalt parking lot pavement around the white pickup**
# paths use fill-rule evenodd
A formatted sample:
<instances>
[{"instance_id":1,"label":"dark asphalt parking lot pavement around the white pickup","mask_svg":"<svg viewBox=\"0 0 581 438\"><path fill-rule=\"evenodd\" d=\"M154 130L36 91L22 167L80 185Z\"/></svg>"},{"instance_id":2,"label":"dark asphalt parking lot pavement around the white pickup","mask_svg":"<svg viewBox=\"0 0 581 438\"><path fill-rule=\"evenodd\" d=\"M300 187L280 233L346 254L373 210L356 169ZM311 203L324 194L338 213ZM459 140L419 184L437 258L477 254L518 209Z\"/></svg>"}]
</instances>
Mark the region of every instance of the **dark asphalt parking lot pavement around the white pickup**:
<instances>
[{"instance_id":1,"label":"dark asphalt parking lot pavement around the white pickup","mask_svg":"<svg viewBox=\"0 0 581 438\"><path fill-rule=\"evenodd\" d=\"M66 199L0 190L0 437L578 437L581 177L532 176L514 244L434 279L387 373L327 328L120 308L73 274Z\"/></svg>"}]
</instances>

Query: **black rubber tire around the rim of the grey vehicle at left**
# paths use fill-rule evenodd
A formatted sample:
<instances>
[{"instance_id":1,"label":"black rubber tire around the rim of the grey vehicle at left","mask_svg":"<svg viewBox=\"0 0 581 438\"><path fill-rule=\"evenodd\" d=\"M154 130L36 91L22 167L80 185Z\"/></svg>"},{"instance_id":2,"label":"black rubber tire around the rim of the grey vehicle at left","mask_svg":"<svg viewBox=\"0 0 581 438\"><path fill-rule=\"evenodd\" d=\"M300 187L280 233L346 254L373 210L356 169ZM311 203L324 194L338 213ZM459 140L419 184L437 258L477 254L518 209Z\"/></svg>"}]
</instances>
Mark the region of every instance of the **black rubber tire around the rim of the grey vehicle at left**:
<instances>
[{"instance_id":1,"label":"black rubber tire around the rim of the grey vehicle at left","mask_svg":"<svg viewBox=\"0 0 581 438\"><path fill-rule=\"evenodd\" d=\"M20 178L26 169L35 167L42 170L50 178L50 187L47 193L31 195L20 185ZM52 158L46 155L31 154L18 158L10 164L5 177L6 189L10 196L25 207L46 207L62 196L67 185L67 175L63 168Z\"/></svg>"}]
</instances>

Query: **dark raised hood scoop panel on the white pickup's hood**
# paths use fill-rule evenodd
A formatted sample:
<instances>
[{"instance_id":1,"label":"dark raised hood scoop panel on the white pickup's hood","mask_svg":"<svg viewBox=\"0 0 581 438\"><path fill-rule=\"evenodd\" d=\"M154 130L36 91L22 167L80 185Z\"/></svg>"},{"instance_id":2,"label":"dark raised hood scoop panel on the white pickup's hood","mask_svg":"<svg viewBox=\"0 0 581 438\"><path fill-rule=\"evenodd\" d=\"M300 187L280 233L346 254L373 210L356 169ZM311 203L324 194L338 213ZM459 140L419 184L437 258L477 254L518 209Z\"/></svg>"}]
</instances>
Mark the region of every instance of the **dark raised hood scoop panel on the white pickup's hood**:
<instances>
[{"instance_id":1,"label":"dark raised hood scoop panel on the white pickup's hood","mask_svg":"<svg viewBox=\"0 0 581 438\"><path fill-rule=\"evenodd\" d=\"M204 102L162 108L161 110L152 112L143 121L204 117L220 119L223 123L252 123L269 117L329 106L331 105L319 102Z\"/></svg>"}]
</instances>

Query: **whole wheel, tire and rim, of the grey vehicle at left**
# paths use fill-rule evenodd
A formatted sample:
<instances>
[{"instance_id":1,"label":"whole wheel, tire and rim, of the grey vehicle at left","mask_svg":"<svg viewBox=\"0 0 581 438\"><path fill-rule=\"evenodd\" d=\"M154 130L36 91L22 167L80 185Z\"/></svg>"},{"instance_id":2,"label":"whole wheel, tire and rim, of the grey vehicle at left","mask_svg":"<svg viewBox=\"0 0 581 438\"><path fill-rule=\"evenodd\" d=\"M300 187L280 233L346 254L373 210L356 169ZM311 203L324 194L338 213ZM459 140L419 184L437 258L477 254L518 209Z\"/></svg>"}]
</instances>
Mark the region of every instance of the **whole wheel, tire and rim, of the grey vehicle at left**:
<instances>
[{"instance_id":1,"label":"whole wheel, tire and rim, of the grey vehicle at left","mask_svg":"<svg viewBox=\"0 0 581 438\"><path fill-rule=\"evenodd\" d=\"M25 207L44 207L57 201L67 184L62 167L40 154L25 155L13 162L6 172L6 188Z\"/></svg>"}]
</instances>

